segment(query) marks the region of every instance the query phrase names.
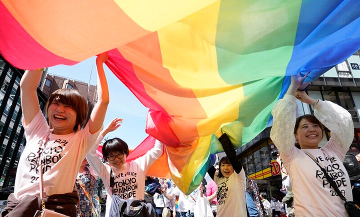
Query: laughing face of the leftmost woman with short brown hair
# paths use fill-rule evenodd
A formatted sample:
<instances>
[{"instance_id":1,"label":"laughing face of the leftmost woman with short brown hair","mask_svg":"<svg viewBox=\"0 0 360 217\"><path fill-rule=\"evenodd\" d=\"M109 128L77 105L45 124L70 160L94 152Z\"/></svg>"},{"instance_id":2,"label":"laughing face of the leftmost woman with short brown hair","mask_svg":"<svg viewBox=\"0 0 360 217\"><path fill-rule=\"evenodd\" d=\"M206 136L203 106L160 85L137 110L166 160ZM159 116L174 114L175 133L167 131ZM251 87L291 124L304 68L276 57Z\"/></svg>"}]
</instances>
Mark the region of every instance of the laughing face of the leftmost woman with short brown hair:
<instances>
[{"instance_id":1,"label":"laughing face of the leftmost woman with short brown hair","mask_svg":"<svg viewBox=\"0 0 360 217\"><path fill-rule=\"evenodd\" d=\"M76 112L70 105L54 99L47 109L49 124L53 128L53 133L64 135L73 132L76 124Z\"/></svg>"}]
</instances>

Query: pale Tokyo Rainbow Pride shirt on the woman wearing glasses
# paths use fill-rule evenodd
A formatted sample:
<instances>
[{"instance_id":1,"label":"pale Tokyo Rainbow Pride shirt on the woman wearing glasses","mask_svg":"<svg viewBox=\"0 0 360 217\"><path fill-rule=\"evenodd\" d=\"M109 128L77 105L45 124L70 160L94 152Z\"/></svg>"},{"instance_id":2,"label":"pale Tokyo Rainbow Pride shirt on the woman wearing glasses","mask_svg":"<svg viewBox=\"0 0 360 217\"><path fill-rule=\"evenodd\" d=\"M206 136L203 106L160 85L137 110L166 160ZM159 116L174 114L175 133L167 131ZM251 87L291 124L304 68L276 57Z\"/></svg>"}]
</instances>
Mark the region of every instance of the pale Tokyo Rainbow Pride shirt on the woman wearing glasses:
<instances>
[{"instance_id":1,"label":"pale Tokyo Rainbow Pride shirt on the woman wearing glasses","mask_svg":"<svg viewBox=\"0 0 360 217\"><path fill-rule=\"evenodd\" d=\"M112 173L114 177L114 186L110 187L110 169L111 166L103 164L96 154L96 147L103 139L99 135L96 146L87 155L86 159L89 165L93 168L96 175L98 175L103 183L107 193L105 216L109 216L109 210L112 200L112 195L117 194L123 199L143 199L145 192L145 175L151 164L162 154L163 144L158 140L155 141L154 147L151 148L139 158L130 162L126 162L121 172L118 174Z\"/></svg>"}]
</instances>

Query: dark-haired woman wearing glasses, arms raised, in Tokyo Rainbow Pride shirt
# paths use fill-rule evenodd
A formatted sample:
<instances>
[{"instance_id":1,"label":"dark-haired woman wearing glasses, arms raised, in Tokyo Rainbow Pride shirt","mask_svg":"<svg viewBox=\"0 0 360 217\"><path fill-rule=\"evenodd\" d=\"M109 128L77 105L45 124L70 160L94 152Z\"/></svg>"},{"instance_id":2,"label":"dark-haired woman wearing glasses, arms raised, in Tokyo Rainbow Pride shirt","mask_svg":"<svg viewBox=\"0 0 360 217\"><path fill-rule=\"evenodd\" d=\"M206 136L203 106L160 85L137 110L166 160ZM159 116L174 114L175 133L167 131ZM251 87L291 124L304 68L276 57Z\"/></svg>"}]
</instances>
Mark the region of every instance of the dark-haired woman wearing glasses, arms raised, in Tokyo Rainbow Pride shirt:
<instances>
[{"instance_id":1,"label":"dark-haired woman wearing glasses, arms raised, in Tokyo Rainbow Pride shirt","mask_svg":"<svg viewBox=\"0 0 360 217\"><path fill-rule=\"evenodd\" d=\"M99 144L103 137L120 126L121 118L113 119L97 138ZM96 154L97 145L86 156L88 163L95 174L101 177L107 193L105 217L109 216L113 195L122 199L144 199L145 173L150 165L162 154L163 144L155 141L154 147L143 156L126 162L129 154L128 146L120 138L111 138L102 146L103 159L108 164L102 163Z\"/></svg>"}]
</instances>

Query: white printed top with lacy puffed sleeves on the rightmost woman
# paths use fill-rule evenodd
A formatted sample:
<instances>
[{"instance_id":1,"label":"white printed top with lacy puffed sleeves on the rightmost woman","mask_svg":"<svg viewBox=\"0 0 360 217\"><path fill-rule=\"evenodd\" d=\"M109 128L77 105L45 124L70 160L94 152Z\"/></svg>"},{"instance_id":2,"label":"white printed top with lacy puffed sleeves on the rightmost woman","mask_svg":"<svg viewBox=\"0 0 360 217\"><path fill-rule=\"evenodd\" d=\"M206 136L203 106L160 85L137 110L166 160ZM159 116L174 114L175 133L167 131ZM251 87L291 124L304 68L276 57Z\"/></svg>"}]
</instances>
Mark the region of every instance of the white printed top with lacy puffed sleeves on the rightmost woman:
<instances>
[{"instance_id":1,"label":"white printed top with lacy puffed sleeves on the rightmost woman","mask_svg":"<svg viewBox=\"0 0 360 217\"><path fill-rule=\"evenodd\" d=\"M347 200L352 200L351 184L343 159L353 139L351 115L329 101L319 101L314 115L329 130L329 141L319 149L297 149L294 146L296 98L285 94L272 109L270 137L280 151L294 194L296 216L347 216L344 201L335 193L321 169L305 153L317 160L334 178Z\"/></svg>"}]
</instances>

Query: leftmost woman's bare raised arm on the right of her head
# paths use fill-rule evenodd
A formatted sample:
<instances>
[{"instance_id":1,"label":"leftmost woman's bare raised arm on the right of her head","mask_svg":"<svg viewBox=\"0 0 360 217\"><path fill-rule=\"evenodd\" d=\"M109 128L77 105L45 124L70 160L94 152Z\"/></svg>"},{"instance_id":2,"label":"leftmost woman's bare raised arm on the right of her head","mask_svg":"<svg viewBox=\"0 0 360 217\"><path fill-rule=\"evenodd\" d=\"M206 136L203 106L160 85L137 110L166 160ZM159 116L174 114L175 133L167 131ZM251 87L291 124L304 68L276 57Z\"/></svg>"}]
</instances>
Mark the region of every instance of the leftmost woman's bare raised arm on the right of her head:
<instances>
[{"instance_id":1,"label":"leftmost woman's bare raised arm on the right of her head","mask_svg":"<svg viewBox=\"0 0 360 217\"><path fill-rule=\"evenodd\" d=\"M95 133L99 130L103 124L105 118L105 113L107 105L109 103L109 92L107 87L107 81L105 77L105 72L102 64L107 59L107 53L101 53L96 58L96 68L97 68L97 102L92 109L90 119L89 119L89 131L90 133Z\"/></svg>"}]
</instances>

